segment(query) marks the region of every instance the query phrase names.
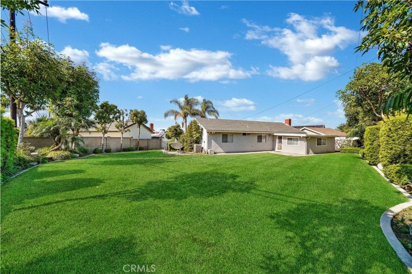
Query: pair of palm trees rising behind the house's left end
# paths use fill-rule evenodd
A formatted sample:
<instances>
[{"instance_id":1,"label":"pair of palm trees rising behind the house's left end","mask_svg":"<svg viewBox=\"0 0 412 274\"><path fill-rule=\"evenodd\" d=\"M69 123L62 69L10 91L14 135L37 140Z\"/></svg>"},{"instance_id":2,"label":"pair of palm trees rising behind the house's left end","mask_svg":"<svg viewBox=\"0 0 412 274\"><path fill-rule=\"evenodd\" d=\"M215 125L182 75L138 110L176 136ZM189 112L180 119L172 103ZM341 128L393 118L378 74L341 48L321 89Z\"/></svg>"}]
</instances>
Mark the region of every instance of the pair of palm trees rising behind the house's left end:
<instances>
[{"instance_id":1,"label":"pair of palm trees rising behind the house's left end","mask_svg":"<svg viewBox=\"0 0 412 274\"><path fill-rule=\"evenodd\" d=\"M183 100L172 99L170 100L171 104L175 104L177 110L168 110L164 113L164 117L173 116L177 122L178 118L183 120L182 124L184 125L184 131L187 131L187 118L188 117L202 117L206 118L207 115L213 116L216 119L219 118L219 112L213 106L212 101L203 99L202 102L195 97L189 97L187 94L184 95ZM200 106L200 108L197 108ZM182 127L183 127L182 125Z\"/></svg>"}]
</instances>

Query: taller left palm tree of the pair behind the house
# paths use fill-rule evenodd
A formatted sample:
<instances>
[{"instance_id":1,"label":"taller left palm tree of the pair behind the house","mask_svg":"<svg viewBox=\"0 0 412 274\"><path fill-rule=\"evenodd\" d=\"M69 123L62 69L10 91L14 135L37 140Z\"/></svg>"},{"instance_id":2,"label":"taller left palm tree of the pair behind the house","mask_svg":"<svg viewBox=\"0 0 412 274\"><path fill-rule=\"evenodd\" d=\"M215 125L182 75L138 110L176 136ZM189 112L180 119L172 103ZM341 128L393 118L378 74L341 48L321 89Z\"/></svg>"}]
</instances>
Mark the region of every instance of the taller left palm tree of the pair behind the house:
<instances>
[{"instance_id":1,"label":"taller left palm tree of the pair behind the house","mask_svg":"<svg viewBox=\"0 0 412 274\"><path fill-rule=\"evenodd\" d=\"M172 99L170 100L170 103L178 106L179 110L168 110L164 113L164 117L167 118L173 116L175 121L177 121L179 117L182 118L185 132L187 131L187 117L197 117L202 115L201 111L196 108L196 106L200 105L199 100L194 97L189 97L187 94L184 95L183 101Z\"/></svg>"}]
</instances>

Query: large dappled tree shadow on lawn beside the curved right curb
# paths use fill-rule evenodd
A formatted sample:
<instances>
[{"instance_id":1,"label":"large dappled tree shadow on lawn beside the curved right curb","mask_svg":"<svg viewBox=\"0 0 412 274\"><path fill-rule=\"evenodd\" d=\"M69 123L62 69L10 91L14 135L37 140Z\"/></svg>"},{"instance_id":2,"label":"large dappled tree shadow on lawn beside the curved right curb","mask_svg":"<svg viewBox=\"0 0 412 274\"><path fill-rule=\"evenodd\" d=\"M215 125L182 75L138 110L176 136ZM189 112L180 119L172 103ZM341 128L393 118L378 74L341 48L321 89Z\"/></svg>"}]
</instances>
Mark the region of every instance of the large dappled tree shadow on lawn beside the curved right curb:
<instances>
[{"instance_id":1,"label":"large dappled tree shadow on lawn beside the curved right curb","mask_svg":"<svg viewBox=\"0 0 412 274\"><path fill-rule=\"evenodd\" d=\"M287 235L289 251L263 254L266 273L407 273L383 235L385 208L365 200L296 203L268 217ZM292 251L290 251L292 250Z\"/></svg>"}]
</instances>

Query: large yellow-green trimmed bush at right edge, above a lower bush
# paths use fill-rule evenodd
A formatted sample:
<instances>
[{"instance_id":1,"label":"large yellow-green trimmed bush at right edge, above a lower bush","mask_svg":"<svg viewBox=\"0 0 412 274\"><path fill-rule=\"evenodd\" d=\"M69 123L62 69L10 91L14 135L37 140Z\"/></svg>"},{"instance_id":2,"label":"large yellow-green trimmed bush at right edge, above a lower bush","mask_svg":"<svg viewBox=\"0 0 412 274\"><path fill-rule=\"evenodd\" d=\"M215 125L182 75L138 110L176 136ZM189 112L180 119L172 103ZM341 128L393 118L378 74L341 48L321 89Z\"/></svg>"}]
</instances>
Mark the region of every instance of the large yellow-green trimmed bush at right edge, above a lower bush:
<instances>
[{"instance_id":1,"label":"large yellow-green trimmed bush at right edge, above a lower bush","mask_svg":"<svg viewBox=\"0 0 412 274\"><path fill-rule=\"evenodd\" d=\"M386 119L379 132L379 160L383 166L412 164L412 117L400 115Z\"/></svg>"}]
</instances>

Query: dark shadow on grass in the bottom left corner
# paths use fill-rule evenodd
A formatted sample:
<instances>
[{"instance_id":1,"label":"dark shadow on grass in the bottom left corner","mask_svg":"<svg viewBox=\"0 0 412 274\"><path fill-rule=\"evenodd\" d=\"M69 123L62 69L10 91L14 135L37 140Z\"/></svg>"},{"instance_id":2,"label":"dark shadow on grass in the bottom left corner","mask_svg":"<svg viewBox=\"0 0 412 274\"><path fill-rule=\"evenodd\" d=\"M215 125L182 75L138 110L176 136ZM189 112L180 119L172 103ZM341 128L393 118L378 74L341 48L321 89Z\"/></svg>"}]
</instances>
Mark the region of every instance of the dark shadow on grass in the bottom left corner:
<instances>
[{"instance_id":1,"label":"dark shadow on grass in the bottom left corner","mask_svg":"<svg viewBox=\"0 0 412 274\"><path fill-rule=\"evenodd\" d=\"M1 273L125 273L126 264L155 264L145 260L144 247L132 237L96 239L46 253L26 264L9 265L3 260Z\"/></svg>"}]
</instances>

